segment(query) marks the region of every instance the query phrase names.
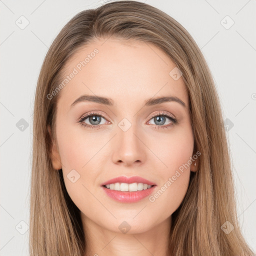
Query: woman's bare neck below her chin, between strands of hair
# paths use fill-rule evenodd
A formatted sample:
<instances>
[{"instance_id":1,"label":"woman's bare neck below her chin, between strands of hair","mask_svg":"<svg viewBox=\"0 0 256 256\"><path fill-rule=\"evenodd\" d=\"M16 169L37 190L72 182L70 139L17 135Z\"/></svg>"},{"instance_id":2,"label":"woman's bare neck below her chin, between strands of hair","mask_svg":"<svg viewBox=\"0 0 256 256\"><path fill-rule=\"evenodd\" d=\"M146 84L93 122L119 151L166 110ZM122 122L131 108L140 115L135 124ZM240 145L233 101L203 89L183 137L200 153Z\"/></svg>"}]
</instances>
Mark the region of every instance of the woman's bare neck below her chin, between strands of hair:
<instances>
[{"instance_id":1,"label":"woman's bare neck below her chin, between strands of hair","mask_svg":"<svg viewBox=\"0 0 256 256\"><path fill-rule=\"evenodd\" d=\"M104 228L81 213L85 256L166 256L171 217L143 232L122 233Z\"/></svg>"}]
</instances>

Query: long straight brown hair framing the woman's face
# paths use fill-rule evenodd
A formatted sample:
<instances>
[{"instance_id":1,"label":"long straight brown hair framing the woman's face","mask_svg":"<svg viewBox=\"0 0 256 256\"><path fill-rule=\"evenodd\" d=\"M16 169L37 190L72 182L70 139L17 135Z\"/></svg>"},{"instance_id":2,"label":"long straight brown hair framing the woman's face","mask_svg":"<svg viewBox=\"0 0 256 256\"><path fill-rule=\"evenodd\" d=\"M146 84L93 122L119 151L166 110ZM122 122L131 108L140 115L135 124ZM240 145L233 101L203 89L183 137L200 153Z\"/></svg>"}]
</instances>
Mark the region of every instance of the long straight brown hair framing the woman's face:
<instances>
[{"instance_id":1,"label":"long straight brown hair framing the woman's face","mask_svg":"<svg viewBox=\"0 0 256 256\"><path fill-rule=\"evenodd\" d=\"M158 46L181 70L188 93L194 150L201 155L199 170L191 172L187 193L172 214L168 255L253 255L237 223L222 113L206 61L176 20L148 4L129 0L76 14L56 36L43 61L33 115L30 255L84 255L87 244L79 209L68 196L62 170L54 170L50 160L60 93L50 100L47 95L59 85L64 65L79 48L110 36ZM224 223L233 226L228 234L221 229Z\"/></svg>"}]
</instances>

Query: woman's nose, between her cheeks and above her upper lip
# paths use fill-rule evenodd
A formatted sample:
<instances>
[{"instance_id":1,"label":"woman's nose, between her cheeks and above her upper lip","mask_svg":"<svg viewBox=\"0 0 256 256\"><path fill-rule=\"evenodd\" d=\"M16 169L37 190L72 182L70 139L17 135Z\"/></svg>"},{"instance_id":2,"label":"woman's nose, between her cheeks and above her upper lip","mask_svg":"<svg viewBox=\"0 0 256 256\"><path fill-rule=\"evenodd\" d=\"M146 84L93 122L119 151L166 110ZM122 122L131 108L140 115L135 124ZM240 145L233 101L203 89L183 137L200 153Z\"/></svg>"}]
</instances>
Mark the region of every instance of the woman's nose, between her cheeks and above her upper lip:
<instances>
[{"instance_id":1,"label":"woman's nose, between her cheeks and above her upper lip","mask_svg":"<svg viewBox=\"0 0 256 256\"><path fill-rule=\"evenodd\" d=\"M112 161L123 166L140 165L146 159L146 145L142 132L131 125L126 131L117 127L112 144Z\"/></svg>"}]
</instances>

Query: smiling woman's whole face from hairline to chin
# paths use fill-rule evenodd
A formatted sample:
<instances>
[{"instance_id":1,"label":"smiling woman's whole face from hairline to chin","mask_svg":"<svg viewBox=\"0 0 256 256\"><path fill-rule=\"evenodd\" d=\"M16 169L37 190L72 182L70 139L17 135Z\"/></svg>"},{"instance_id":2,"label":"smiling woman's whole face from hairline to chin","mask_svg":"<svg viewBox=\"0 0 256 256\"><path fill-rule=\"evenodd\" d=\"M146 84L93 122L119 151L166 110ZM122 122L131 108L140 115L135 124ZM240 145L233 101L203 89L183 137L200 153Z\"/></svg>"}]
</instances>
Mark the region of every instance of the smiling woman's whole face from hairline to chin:
<instances>
[{"instance_id":1,"label":"smiling woman's whole face from hairline to chin","mask_svg":"<svg viewBox=\"0 0 256 256\"><path fill-rule=\"evenodd\" d=\"M66 64L70 79L58 92L51 159L55 169L62 168L84 223L122 232L119 225L126 221L129 232L140 233L169 219L180 205L195 170L194 141L188 95L173 68L158 47L114 38L95 40ZM89 96L104 98L90 101ZM153 100L159 97L169 100ZM154 185L149 192L110 189L114 199L101 185L120 176ZM135 194L144 197L135 200Z\"/></svg>"}]
</instances>

